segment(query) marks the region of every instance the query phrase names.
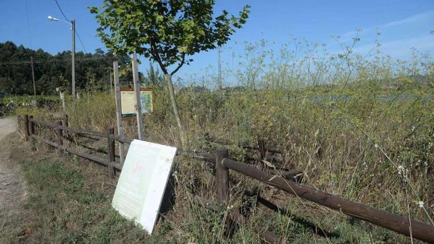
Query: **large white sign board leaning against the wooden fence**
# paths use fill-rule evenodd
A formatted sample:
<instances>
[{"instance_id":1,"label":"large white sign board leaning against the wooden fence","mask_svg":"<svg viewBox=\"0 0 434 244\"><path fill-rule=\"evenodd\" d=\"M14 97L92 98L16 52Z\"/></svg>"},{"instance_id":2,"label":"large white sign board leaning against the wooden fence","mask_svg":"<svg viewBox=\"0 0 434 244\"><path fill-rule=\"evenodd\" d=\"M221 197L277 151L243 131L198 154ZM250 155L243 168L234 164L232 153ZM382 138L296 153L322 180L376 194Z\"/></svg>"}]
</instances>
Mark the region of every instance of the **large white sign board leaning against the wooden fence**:
<instances>
[{"instance_id":1,"label":"large white sign board leaning against the wooden fence","mask_svg":"<svg viewBox=\"0 0 434 244\"><path fill-rule=\"evenodd\" d=\"M133 140L111 205L152 233L177 148Z\"/></svg>"}]
</instances>

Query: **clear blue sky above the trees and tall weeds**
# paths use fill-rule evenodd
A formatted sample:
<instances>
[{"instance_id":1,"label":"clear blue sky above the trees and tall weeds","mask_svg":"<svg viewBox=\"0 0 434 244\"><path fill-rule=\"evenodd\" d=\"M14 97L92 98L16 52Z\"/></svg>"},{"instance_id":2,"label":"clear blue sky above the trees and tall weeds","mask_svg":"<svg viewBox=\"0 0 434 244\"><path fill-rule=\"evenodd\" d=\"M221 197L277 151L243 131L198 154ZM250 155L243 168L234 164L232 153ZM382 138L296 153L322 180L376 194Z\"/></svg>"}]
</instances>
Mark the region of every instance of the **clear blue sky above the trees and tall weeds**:
<instances>
[{"instance_id":1,"label":"clear blue sky above the trees and tall weeds","mask_svg":"<svg viewBox=\"0 0 434 244\"><path fill-rule=\"evenodd\" d=\"M88 52L105 49L95 37L98 24L87 6L100 6L102 0L58 0L66 16L76 20L76 28ZM421 52L434 52L434 1L433 0L216 0L216 12L227 9L238 13L245 4L252 5L250 18L241 30L231 37L222 49L222 61L228 62L230 53L242 53L245 41L264 38L276 49L291 38L304 37L310 42L325 43L330 52L338 46L330 35L340 35L351 40L355 29L363 31L362 41L356 47L366 52L374 41L377 29L381 35L381 50L393 58L407 59L410 48ZM11 40L33 49L42 48L52 54L71 48L71 31L67 24L51 22L48 15L62 18L54 0L27 0L30 18L30 35L26 0L0 0L0 42ZM83 51L76 40L77 51ZM208 66L217 67L217 51L195 55L194 62L183 67L179 77L191 73L201 75ZM142 60L140 71L148 67Z\"/></svg>"}]
</instances>

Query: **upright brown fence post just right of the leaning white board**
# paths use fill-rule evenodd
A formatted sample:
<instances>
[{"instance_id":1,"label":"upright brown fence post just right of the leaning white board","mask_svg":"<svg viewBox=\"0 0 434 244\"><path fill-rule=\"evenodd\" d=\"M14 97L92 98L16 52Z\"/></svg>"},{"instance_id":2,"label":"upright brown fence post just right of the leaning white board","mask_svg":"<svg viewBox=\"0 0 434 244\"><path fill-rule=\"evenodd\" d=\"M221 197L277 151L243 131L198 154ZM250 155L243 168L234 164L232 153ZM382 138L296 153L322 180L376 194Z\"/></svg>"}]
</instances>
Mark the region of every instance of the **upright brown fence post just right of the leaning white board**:
<instances>
[{"instance_id":1,"label":"upright brown fence post just right of the leaning white board","mask_svg":"<svg viewBox=\"0 0 434 244\"><path fill-rule=\"evenodd\" d=\"M229 193L229 169L223 166L222 161L228 157L228 150L218 147L216 154L217 203L223 205Z\"/></svg>"}]
</instances>

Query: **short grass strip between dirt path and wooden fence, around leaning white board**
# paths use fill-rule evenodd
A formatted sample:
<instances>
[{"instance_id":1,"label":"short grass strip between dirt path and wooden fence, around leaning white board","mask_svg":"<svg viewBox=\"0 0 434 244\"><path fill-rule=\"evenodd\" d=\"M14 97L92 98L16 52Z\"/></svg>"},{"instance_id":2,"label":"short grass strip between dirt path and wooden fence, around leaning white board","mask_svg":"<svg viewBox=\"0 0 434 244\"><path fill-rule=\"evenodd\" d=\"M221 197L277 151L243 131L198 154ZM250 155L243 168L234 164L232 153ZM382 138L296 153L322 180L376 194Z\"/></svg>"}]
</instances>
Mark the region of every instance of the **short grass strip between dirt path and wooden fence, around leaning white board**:
<instances>
[{"instance_id":1,"label":"short grass strip between dirt path and wooden fence, around leaning white board","mask_svg":"<svg viewBox=\"0 0 434 244\"><path fill-rule=\"evenodd\" d=\"M58 157L43 144L10 138L12 164L22 168L28 197L7 216L0 243L222 243L224 214L180 197L152 236L111 208L116 180L106 168L77 157ZM33 147L33 149L32 149ZM183 186L182 186L183 187ZM184 194L181 194L184 196ZM17 204L19 204L17 202ZM226 243L259 243L248 229ZM247 236L246 236L247 235Z\"/></svg>"}]
</instances>

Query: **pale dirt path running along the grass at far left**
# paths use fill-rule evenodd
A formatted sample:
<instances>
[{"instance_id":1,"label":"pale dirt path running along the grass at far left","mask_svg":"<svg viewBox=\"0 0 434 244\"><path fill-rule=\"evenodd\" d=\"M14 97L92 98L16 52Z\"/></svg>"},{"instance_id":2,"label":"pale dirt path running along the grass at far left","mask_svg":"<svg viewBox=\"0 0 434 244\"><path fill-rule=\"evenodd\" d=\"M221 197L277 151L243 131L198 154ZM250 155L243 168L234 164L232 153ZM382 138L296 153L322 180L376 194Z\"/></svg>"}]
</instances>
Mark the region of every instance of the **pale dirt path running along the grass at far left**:
<instances>
[{"instance_id":1,"label":"pale dirt path running along the grass at far left","mask_svg":"<svg viewBox=\"0 0 434 244\"><path fill-rule=\"evenodd\" d=\"M16 123L12 118L0 118L0 219L17 205L24 195L24 183L15 175L8 164L9 152L3 139L15 131ZM1 223L0 223L1 224Z\"/></svg>"}]
</instances>

